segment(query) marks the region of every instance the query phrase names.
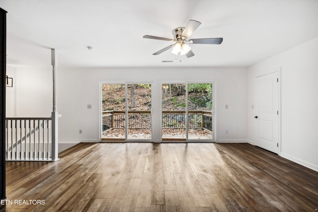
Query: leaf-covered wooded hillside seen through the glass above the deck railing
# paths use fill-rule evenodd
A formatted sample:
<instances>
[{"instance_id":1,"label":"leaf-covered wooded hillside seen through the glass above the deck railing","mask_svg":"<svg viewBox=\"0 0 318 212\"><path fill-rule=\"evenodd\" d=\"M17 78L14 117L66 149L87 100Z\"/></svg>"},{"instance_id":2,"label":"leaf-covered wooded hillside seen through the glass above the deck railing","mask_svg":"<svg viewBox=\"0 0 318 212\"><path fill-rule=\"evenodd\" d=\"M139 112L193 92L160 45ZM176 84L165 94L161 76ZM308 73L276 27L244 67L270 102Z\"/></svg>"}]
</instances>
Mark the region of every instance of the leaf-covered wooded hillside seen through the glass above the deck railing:
<instances>
[{"instance_id":1,"label":"leaf-covered wooded hillside seen through the glass above the deck railing","mask_svg":"<svg viewBox=\"0 0 318 212\"><path fill-rule=\"evenodd\" d=\"M189 110L212 109L212 84L188 84ZM129 110L151 110L151 86L149 84L128 84ZM185 84L163 84L162 110L185 110ZM102 110L125 110L125 84L102 84Z\"/></svg>"}]
</instances>

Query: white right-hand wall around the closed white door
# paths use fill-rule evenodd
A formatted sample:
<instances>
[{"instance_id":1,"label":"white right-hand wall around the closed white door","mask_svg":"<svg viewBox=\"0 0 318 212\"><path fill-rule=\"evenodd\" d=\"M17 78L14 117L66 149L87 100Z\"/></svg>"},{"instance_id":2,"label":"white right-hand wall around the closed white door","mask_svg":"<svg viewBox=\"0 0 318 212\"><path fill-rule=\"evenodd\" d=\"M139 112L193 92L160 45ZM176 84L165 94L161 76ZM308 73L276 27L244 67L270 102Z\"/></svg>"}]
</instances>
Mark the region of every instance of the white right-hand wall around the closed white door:
<instances>
[{"instance_id":1,"label":"white right-hand wall around the closed white door","mask_svg":"<svg viewBox=\"0 0 318 212\"><path fill-rule=\"evenodd\" d=\"M248 68L248 139L253 142L253 78L281 67L281 156L318 171L318 38Z\"/></svg>"}]
</instances>

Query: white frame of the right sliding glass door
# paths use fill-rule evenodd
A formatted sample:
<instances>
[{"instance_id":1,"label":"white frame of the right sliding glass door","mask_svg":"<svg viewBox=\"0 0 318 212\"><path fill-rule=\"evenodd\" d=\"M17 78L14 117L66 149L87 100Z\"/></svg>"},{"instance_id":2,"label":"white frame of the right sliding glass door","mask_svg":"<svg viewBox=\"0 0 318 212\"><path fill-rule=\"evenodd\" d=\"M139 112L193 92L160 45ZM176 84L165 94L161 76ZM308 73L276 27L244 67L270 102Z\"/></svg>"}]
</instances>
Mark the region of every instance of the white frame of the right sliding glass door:
<instances>
[{"instance_id":1,"label":"white frame of the right sliding glass door","mask_svg":"<svg viewBox=\"0 0 318 212\"><path fill-rule=\"evenodd\" d=\"M200 139L188 139L188 84L192 83L211 83L212 84L212 140L206 139L206 140L200 140ZM216 80L184 80L184 81L168 81L168 80L161 80L159 82L159 90L160 90L160 141L161 142L175 142L173 140L171 141L162 141L162 84L185 84L186 94L185 94L185 107L186 107L186 113L185 113L185 120L186 120L186 139L185 141L179 141L179 142L217 142L217 116L216 116Z\"/></svg>"}]
</instances>

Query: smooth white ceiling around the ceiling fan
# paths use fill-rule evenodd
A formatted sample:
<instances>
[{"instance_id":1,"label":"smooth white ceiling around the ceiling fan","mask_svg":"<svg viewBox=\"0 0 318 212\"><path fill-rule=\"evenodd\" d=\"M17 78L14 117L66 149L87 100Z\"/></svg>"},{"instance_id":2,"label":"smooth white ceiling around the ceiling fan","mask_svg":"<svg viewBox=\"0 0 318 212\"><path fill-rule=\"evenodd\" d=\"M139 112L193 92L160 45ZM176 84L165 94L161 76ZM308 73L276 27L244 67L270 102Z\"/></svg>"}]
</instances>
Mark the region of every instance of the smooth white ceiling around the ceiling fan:
<instances>
[{"instance_id":1,"label":"smooth white ceiling around the ceiling fan","mask_svg":"<svg viewBox=\"0 0 318 212\"><path fill-rule=\"evenodd\" d=\"M0 0L7 13L7 64L60 67L247 67L318 37L318 0ZM195 56L166 51L189 19ZM88 51L87 46L93 50ZM173 60L173 63L162 63ZM181 60L181 62L180 62Z\"/></svg>"}]
</instances>

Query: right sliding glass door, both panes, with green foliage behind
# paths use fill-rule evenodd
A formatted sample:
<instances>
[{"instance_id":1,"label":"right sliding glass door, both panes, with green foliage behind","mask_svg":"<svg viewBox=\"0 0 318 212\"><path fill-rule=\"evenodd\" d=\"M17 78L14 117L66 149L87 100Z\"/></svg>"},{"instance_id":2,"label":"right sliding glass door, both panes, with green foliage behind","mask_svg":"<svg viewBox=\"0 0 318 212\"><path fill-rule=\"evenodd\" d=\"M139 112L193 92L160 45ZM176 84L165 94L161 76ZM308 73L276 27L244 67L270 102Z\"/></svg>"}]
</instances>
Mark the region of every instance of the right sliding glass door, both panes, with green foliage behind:
<instances>
[{"instance_id":1,"label":"right sliding glass door, both panes, with green foliage behind","mask_svg":"<svg viewBox=\"0 0 318 212\"><path fill-rule=\"evenodd\" d=\"M162 141L213 140L212 91L212 83L163 83Z\"/></svg>"}]
</instances>

